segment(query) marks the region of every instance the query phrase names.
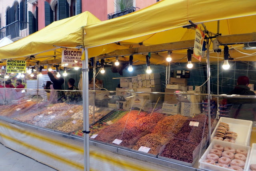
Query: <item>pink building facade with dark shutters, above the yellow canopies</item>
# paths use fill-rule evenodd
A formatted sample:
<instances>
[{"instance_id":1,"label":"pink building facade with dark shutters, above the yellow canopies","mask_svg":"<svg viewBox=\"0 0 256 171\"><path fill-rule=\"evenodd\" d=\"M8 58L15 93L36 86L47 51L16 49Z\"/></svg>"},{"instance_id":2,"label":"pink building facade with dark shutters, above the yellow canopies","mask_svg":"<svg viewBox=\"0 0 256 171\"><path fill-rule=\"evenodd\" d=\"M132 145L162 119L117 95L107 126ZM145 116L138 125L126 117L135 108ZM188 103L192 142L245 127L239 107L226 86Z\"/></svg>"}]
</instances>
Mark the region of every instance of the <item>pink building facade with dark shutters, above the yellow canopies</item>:
<instances>
[{"instance_id":1,"label":"pink building facade with dark shutters, above the yellow canopies","mask_svg":"<svg viewBox=\"0 0 256 171\"><path fill-rule=\"evenodd\" d=\"M119 5L126 1L125 5ZM54 21L89 11L101 21L129 14L159 0L0 0L0 39L26 37Z\"/></svg>"}]
</instances>

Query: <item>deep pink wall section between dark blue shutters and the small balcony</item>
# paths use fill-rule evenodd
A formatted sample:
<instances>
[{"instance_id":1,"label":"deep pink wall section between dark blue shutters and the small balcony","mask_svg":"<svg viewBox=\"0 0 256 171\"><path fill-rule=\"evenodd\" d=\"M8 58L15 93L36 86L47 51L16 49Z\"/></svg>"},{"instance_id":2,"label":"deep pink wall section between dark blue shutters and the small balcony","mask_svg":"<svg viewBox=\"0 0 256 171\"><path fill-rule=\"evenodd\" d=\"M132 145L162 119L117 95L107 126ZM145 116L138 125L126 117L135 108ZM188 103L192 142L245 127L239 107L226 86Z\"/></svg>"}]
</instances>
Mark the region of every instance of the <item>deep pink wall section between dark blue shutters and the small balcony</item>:
<instances>
[{"instance_id":1,"label":"deep pink wall section between dark blue shutters and the small balcony","mask_svg":"<svg viewBox=\"0 0 256 171\"><path fill-rule=\"evenodd\" d=\"M89 11L101 21L108 19L107 0L83 0L82 12Z\"/></svg>"}]
</instances>

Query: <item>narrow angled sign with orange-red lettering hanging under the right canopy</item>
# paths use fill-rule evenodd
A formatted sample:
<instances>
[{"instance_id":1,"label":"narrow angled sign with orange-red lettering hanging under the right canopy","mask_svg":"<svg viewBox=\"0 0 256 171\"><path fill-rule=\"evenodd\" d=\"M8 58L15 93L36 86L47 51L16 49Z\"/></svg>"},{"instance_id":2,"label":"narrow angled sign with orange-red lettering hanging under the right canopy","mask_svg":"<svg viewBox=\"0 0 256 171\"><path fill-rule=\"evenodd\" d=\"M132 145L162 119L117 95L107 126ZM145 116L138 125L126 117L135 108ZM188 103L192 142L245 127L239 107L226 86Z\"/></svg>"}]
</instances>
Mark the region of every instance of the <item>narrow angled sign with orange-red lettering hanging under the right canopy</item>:
<instances>
[{"instance_id":1,"label":"narrow angled sign with orange-red lettering hanging under the right canopy","mask_svg":"<svg viewBox=\"0 0 256 171\"><path fill-rule=\"evenodd\" d=\"M194 53L193 56L201 62L202 59L202 49L204 43L205 34L196 26L196 35L194 43Z\"/></svg>"}]
</instances>

